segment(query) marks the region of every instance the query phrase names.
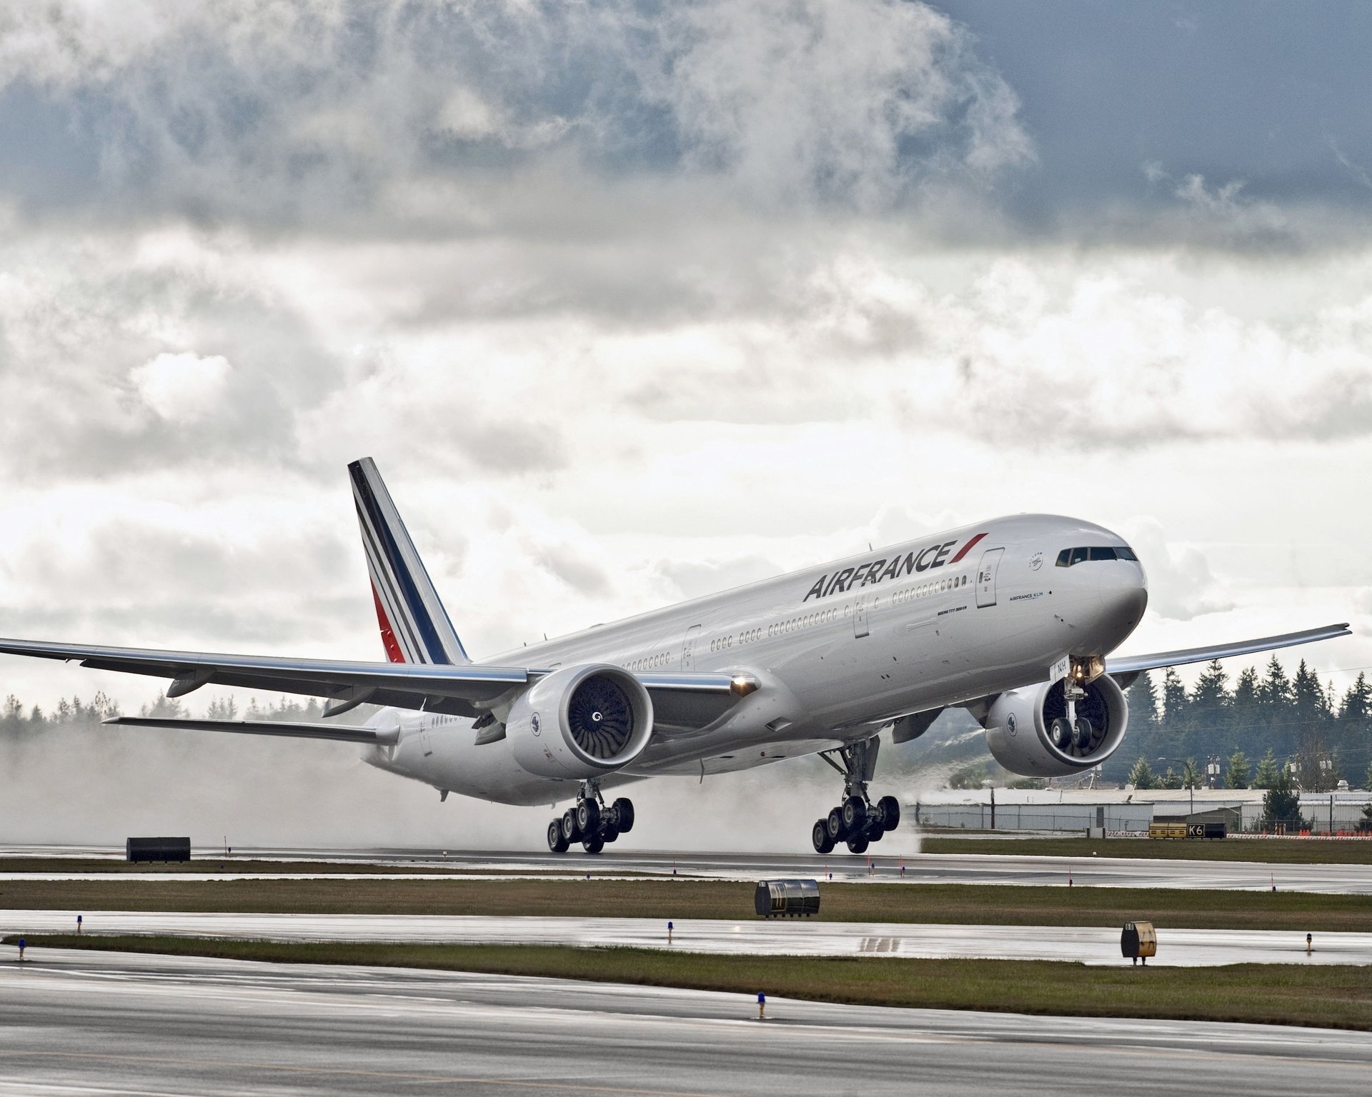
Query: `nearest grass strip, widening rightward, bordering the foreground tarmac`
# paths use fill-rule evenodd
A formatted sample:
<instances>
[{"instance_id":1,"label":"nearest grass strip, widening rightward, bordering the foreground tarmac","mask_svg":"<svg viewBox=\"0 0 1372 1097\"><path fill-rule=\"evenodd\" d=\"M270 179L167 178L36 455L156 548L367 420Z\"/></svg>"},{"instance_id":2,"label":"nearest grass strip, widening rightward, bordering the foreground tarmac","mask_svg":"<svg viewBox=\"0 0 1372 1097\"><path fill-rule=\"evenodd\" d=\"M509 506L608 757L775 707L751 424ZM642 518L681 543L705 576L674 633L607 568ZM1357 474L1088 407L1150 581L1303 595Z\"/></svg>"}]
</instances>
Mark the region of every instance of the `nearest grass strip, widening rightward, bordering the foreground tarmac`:
<instances>
[{"instance_id":1,"label":"nearest grass strip, widening rightward, bordering the foreground tarmac","mask_svg":"<svg viewBox=\"0 0 1372 1097\"><path fill-rule=\"evenodd\" d=\"M5 938L12 943L14 937ZM44 948L104 949L298 964L365 964L536 975L856 1005L989 1009L1174 1020L1372 1028L1372 980L1360 967L1087 967L1025 960L701 956L653 949L506 945L279 943L156 937L32 937ZM571 991L569 991L571 993ZM556 1002L554 1002L556 1004Z\"/></svg>"}]
</instances>

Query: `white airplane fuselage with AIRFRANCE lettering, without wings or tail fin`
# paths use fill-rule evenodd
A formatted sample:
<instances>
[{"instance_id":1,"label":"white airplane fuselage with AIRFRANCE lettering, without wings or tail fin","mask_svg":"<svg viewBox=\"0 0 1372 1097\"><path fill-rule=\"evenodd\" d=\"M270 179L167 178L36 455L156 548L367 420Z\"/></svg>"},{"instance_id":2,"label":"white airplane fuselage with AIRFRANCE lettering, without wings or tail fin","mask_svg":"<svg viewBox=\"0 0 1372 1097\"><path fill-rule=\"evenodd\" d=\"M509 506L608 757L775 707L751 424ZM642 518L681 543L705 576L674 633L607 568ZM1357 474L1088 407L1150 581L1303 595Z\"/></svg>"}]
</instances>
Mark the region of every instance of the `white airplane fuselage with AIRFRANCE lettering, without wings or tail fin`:
<instances>
[{"instance_id":1,"label":"white airplane fuselage with AIRFRANCE lettering, without wings or tail fin","mask_svg":"<svg viewBox=\"0 0 1372 1097\"><path fill-rule=\"evenodd\" d=\"M978 536L981 535L981 536ZM491 665L611 662L639 673L746 672L760 683L690 732L654 734L612 786L704 775L870 738L908 713L1045 682L1063 655L1106 655L1147 605L1143 568L1063 568L1063 548L1118 546L1102 527L1024 514L919 538L628 617ZM527 772L508 740L477 745L462 717L390 710L401 736L366 761L440 790L505 804L554 804L575 780Z\"/></svg>"}]
</instances>

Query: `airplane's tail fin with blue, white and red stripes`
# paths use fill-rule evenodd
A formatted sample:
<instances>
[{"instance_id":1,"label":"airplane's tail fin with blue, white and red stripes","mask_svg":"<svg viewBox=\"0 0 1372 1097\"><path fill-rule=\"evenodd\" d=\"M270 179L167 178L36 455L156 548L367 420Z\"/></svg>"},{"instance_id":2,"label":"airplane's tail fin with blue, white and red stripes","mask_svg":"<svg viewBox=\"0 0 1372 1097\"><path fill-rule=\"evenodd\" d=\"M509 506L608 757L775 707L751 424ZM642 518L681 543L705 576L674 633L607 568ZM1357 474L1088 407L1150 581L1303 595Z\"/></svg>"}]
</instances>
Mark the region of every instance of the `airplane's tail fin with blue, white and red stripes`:
<instances>
[{"instance_id":1,"label":"airplane's tail fin with blue, white and red stripes","mask_svg":"<svg viewBox=\"0 0 1372 1097\"><path fill-rule=\"evenodd\" d=\"M347 470L387 658L391 662L471 662L376 462L364 457Z\"/></svg>"}]
</instances>

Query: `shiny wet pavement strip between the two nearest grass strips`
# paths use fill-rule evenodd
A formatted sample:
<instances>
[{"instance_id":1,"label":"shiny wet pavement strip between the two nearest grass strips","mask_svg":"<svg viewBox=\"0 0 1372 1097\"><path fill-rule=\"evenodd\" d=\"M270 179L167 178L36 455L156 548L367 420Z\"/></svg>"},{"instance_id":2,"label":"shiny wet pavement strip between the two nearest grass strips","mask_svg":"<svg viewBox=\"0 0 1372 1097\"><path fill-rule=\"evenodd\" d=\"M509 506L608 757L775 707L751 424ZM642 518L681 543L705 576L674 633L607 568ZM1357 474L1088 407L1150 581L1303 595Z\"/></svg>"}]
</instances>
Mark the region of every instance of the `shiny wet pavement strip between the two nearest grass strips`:
<instances>
[{"instance_id":1,"label":"shiny wet pavement strip between the two nearest grass strips","mask_svg":"<svg viewBox=\"0 0 1372 1097\"><path fill-rule=\"evenodd\" d=\"M66 911L0 911L0 931L55 934L75 930ZM84 915L88 934L218 937L258 941L406 941L446 945L568 945L672 949L749 956L903 956L923 959L1066 960L1124 964L1120 930L1063 926L954 926L892 921L674 923L632 917L482 917L471 915L222 915L97 911ZM1305 952L1305 934L1259 930L1158 931L1152 964L1372 964L1372 932L1321 932Z\"/></svg>"}]
</instances>

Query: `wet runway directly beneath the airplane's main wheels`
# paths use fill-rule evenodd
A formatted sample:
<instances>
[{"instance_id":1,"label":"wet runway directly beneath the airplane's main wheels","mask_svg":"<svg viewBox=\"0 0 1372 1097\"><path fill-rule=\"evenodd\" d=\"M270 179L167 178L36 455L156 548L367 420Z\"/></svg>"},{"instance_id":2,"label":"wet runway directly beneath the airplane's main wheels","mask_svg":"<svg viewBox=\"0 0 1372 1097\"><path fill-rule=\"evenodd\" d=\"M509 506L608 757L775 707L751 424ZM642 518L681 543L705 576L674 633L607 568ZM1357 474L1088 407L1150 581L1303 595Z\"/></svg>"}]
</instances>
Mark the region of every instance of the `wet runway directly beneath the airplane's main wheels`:
<instances>
[{"instance_id":1,"label":"wet runway directly beneath the airplane's main wheels","mask_svg":"<svg viewBox=\"0 0 1372 1097\"><path fill-rule=\"evenodd\" d=\"M60 853L59 853L60 850ZM106 856L110 847L14 846L0 847L0 857L21 856ZM199 853L196 854L200 856ZM1372 895L1372 864L1356 865L1272 865L1255 861L1169 861L1115 857L1013 857L1004 854L884 854L874 847L873 867L866 857L851 854L770 854L770 853L656 853L627 847L606 849L598 856L569 853L512 853L508 850L361 850L361 849L235 849L232 858L206 850L209 864L224 864L233 872L237 860L333 861L391 867L398 876L432 873L435 868L502 876L678 876L697 879L759 880L775 876L812 876L833 883L966 883L1077 887L1177 887L1236 891L1317 891L1325 894ZM118 860L122 860L122 850ZM34 879L30 873L16 873ZM104 878L104 873L93 873ZM123 873L121 873L123 875ZM206 875L222 878L209 871ZM247 873L254 875L254 873ZM276 875L276 873L272 873ZM328 873L338 876L338 873ZM370 873L369 873L370 875ZM62 873L60 879L84 879L84 871ZM192 879L178 873L181 879Z\"/></svg>"}]
</instances>

